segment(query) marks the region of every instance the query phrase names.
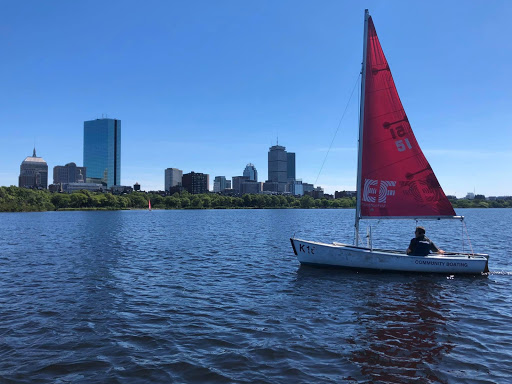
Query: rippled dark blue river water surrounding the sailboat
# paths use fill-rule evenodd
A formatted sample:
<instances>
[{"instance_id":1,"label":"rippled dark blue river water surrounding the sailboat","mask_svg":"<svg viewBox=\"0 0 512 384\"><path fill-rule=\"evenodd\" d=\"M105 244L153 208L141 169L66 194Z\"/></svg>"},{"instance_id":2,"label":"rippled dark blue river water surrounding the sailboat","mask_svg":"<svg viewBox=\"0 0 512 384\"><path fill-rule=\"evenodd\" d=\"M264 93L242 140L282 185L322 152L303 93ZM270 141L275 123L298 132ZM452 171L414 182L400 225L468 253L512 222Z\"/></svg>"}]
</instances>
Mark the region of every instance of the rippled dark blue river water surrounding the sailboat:
<instances>
[{"instance_id":1,"label":"rippled dark blue river water surrounding the sailboat","mask_svg":"<svg viewBox=\"0 0 512 384\"><path fill-rule=\"evenodd\" d=\"M508 382L512 210L457 213L489 276L300 267L289 237L351 242L353 210L0 214L0 382Z\"/></svg>"}]
</instances>

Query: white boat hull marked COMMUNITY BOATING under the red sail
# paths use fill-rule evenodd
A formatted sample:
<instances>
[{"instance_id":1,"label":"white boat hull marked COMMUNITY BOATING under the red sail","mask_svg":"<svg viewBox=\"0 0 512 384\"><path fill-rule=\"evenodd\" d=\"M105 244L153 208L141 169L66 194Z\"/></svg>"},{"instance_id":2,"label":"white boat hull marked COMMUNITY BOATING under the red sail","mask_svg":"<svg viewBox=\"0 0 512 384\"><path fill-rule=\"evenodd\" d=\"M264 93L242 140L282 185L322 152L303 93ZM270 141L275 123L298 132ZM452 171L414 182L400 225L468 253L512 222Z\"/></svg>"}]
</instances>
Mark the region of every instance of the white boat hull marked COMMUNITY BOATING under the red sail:
<instances>
[{"instance_id":1,"label":"white boat hull marked COMMUNITY BOATING under the red sail","mask_svg":"<svg viewBox=\"0 0 512 384\"><path fill-rule=\"evenodd\" d=\"M489 271L489 255L484 254L408 256L399 251L372 250L347 244L325 244L294 238L290 240L301 264L446 274L480 274Z\"/></svg>"}]
</instances>

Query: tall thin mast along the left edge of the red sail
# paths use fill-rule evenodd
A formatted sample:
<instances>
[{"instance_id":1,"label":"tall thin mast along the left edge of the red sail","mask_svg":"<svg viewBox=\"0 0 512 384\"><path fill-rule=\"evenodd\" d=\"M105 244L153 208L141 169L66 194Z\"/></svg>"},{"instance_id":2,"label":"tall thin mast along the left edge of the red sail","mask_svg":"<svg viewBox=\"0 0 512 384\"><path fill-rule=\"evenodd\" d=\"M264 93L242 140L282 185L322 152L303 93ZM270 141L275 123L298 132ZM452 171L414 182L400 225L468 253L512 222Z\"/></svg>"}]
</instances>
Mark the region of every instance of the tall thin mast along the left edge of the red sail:
<instances>
[{"instance_id":1,"label":"tall thin mast along the left edge of the red sail","mask_svg":"<svg viewBox=\"0 0 512 384\"><path fill-rule=\"evenodd\" d=\"M361 69L361 104L359 107L359 142L357 151L357 184L356 184L356 220L354 244L359 245L359 220L361 219L361 173L363 164L363 123L364 123L364 91L366 85L366 49L368 45L368 18L370 13L364 10L364 33L363 33L363 66Z\"/></svg>"}]
</instances>

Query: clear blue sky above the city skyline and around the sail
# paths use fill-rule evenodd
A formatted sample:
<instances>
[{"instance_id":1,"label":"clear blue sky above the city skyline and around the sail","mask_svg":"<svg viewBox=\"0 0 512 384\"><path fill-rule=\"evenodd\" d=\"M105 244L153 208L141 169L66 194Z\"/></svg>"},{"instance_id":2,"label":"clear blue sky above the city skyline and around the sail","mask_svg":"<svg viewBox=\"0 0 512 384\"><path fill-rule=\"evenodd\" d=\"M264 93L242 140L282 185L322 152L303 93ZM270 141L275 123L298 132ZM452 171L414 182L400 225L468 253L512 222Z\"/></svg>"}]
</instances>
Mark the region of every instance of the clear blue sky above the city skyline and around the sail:
<instances>
[{"instance_id":1,"label":"clear blue sky above the city skyline and around the sail","mask_svg":"<svg viewBox=\"0 0 512 384\"><path fill-rule=\"evenodd\" d=\"M164 169L354 190L364 9L447 194L512 195L512 1L0 0L0 185L32 154L83 163L83 122L122 121L123 185ZM326 158L325 165L322 163ZM322 171L320 173L320 170ZM318 180L317 180L318 178Z\"/></svg>"}]
</instances>

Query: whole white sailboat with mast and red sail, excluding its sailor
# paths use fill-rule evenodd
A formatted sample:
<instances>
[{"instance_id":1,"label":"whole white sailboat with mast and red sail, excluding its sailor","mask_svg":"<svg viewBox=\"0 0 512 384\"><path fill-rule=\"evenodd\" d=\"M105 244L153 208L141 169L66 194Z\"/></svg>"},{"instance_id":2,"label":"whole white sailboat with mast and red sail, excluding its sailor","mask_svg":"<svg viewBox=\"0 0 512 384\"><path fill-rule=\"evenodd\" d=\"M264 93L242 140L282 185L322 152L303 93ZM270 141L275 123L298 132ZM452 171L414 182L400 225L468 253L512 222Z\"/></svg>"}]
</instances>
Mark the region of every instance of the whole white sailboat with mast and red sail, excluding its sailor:
<instances>
[{"instance_id":1,"label":"whole white sailboat with mast and red sail, excluding its sailor","mask_svg":"<svg viewBox=\"0 0 512 384\"><path fill-rule=\"evenodd\" d=\"M488 272L489 255L446 252L406 255L404 250L359 245L359 222L368 219L452 219L457 216L416 141L368 10L363 67L353 245L292 237L301 264L447 274ZM405 249L405 247L404 247Z\"/></svg>"}]
</instances>

